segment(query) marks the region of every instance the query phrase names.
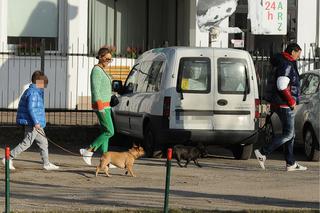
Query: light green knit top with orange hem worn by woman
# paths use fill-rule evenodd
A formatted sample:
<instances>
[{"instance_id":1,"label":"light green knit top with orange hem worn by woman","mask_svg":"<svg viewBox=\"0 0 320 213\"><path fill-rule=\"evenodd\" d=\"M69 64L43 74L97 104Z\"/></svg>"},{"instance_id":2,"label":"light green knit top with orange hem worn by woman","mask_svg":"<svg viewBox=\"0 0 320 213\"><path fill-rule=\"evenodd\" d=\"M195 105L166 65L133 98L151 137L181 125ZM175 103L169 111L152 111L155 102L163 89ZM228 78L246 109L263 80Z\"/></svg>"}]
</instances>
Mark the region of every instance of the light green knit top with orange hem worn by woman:
<instances>
[{"instance_id":1,"label":"light green knit top with orange hem worn by woman","mask_svg":"<svg viewBox=\"0 0 320 213\"><path fill-rule=\"evenodd\" d=\"M92 109L110 107L112 78L101 67L94 66L90 75Z\"/></svg>"}]
</instances>

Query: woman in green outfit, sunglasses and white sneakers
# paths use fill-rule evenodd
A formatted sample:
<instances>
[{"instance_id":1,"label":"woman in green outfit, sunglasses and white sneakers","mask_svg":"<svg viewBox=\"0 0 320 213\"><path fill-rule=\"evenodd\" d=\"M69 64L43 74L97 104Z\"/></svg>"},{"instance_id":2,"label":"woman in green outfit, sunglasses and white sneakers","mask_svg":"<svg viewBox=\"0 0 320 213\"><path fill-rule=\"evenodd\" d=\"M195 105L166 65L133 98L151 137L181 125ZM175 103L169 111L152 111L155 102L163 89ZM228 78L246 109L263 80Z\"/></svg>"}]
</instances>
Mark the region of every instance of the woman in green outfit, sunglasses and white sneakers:
<instances>
[{"instance_id":1,"label":"woman in green outfit, sunglasses and white sneakers","mask_svg":"<svg viewBox=\"0 0 320 213\"><path fill-rule=\"evenodd\" d=\"M91 71L91 101L92 109L98 116L103 133L90 144L87 149L80 149L84 162L91 165L92 155L97 149L102 152L108 151L109 139L114 135L114 128L111 119L110 99L112 95L112 79L106 68L112 61L112 55L108 48L100 48L97 59L99 63Z\"/></svg>"}]
</instances>

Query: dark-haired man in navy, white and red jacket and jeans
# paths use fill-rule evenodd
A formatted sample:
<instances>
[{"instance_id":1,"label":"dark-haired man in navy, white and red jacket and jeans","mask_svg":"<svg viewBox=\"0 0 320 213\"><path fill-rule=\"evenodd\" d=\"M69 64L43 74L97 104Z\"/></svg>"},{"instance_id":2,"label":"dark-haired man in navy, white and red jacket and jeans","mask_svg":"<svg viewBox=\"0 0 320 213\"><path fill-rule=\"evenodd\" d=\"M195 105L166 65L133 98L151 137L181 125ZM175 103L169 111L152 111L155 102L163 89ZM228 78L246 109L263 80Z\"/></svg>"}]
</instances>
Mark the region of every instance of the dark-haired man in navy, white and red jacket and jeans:
<instances>
[{"instance_id":1,"label":"dark-haired man in navy, white and red jacket and jeans","mask_svg":"<svg viewBox=\"0 0 320 213\"><path fill-rule=\"evenodd\" d=\"M301 48L298 44L289 44L284 52L276 54L271 59L275 67L274 81L268 84L271 91L270 107L276 113L282 124L282 134L274 136L271 143L265 144L254 151L262 169L265 169L266 157L279 146L284 145L284 155L287 171L307 170L307 167L298 164L293 155L295 138L293 112L299 103L300 78L296 60L300 57Z\"/></svg>"}]
</instances>

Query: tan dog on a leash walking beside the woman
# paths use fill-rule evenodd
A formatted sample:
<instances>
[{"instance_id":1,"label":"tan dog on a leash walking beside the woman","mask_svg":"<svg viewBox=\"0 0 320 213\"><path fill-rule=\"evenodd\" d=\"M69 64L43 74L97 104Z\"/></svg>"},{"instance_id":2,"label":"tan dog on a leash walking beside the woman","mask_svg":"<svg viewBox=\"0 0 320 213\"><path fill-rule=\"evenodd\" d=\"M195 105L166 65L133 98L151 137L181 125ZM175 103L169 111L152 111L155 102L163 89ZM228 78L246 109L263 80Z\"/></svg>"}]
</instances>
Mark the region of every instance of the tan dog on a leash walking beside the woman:
<instances>
[{"instance_id":1,"label":"tan dog on a leash walking beside the woman","mask_svg":"<svg viewBox=\"0 0 320 213\"><path fill-rule=\"evenodd\" d=\"M136 177L132 172L133 163L143 155L143 148L136 145L133 145L127 152L106 152L100 158L100 164L96 169L96 176L98 176L100 170L104 169L107 177L110 177L108 170L111 163L118 168L127 169L126 174L129 172L132 177Z\"/></svg>"}]
</instances>

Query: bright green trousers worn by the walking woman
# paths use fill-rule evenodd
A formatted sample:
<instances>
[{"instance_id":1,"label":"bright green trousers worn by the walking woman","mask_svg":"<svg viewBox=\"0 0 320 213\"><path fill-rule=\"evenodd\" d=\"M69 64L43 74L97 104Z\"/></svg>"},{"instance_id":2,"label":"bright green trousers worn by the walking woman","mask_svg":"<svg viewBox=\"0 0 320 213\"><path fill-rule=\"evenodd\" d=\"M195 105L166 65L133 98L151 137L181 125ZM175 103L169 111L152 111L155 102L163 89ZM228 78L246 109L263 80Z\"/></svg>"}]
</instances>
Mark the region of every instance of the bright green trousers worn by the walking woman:
<instances>
[{"instance_id":1,"label":"bright green trousers worn by the walking woman","mask_svg":"<svg viewBox=\"0 0 320 213\"><path fill-rule=\"evenodd\" d=\"M105 153L108 151L109 139L114 135L111 108L105 108L104 111L96 111L96 114L103 133L90 144L90 148L92 148L94 152L101 148L102 153Z\"/></svg>"}]
</instances>

